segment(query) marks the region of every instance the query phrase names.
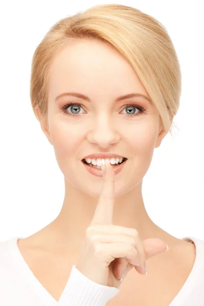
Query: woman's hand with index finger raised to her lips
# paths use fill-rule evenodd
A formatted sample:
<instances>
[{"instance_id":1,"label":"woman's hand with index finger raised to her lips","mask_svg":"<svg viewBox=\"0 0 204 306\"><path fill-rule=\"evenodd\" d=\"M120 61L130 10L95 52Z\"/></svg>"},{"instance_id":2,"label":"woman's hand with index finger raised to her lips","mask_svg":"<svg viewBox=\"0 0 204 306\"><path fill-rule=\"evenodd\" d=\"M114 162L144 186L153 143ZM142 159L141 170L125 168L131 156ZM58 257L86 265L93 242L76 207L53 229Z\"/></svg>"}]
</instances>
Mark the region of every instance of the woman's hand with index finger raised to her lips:
<instances>
[{"instance_id":1,"label":"woman's hand with index finger raised to her lips","mask_svg":"<svg viewBox=\"0 0 204 306\"><path fill-rule=\"evenodd\" d=\"M115 173L108 160L105 165L103 188L76 268L97 284L119 288L122 272L126 276L135 267L145 274L146 259L166 251L166 243L156 238L141 241L135 228L113 225Z\"/></svg>"}]
</instances>

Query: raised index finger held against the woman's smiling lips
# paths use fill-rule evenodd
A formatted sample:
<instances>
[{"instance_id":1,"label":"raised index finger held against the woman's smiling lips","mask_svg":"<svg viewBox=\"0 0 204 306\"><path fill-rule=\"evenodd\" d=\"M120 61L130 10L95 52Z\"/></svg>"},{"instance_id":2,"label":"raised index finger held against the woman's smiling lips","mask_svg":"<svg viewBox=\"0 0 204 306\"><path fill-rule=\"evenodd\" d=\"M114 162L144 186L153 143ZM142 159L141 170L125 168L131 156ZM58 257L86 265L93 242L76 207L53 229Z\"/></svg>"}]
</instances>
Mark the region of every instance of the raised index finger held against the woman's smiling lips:
<instances>
[{"instance_id":1,"label":"raised index finger held against the woman's smiling lips","mask_svg":"<svg viewBox=\"0 0 204 306\"><path fill-rule=\"evenodd\" d=\"M113 224L113 208L115 201L115 171L109 160L105 160L103 186L91 221L93 224Z\"/></svg>"}]
</instances>

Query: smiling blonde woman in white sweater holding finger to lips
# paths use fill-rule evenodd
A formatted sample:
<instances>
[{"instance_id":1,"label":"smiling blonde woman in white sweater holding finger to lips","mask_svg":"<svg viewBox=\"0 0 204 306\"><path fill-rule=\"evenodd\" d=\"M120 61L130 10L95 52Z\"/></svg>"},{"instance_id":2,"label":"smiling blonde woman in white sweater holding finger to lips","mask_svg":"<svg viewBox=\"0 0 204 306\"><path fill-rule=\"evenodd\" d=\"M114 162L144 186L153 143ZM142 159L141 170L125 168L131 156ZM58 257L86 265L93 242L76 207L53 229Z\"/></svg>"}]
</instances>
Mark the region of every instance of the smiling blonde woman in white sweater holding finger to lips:
<instances>
[{"instance_id":1,"label":"smiling blonde woman in white sweater holding finger to lips","mask_svg":"<svg viewBox=\"0 0 204 306\"><path fill-rule=\"evenodd\" d=\"M64 202L39 232L1 243L1 304L203 304L204 242L166 233L142 196L180 96L175 49L151 16L98 5L50 29L33 57L31 102Z\"/></svg>"}]
</instances>

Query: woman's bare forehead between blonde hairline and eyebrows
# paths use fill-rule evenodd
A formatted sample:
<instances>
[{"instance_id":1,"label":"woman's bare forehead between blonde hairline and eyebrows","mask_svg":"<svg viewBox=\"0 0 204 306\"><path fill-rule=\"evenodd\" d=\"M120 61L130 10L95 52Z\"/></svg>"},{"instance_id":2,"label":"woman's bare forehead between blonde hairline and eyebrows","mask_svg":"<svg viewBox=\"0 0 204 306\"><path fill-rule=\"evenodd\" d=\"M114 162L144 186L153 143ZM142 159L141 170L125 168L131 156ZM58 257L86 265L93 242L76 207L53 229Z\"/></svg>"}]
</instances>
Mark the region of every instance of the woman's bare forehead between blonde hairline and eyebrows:
<instances>
[{"instance_id":1,"label":"woman's bare forehead between blonde hairline and eyebrows","mask_svg":"<svg viewBox=\"0 0 204 306\"><path fill-rule=\"evenodd\" d=\"M117 50L90 39L71 41L50 68L50 95L79 90L87 95L90 91L97 95L136 91L148 96L130 63Z\"/></svg>"}]
</instances>

